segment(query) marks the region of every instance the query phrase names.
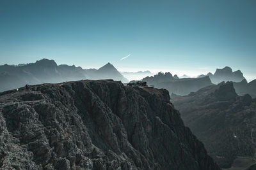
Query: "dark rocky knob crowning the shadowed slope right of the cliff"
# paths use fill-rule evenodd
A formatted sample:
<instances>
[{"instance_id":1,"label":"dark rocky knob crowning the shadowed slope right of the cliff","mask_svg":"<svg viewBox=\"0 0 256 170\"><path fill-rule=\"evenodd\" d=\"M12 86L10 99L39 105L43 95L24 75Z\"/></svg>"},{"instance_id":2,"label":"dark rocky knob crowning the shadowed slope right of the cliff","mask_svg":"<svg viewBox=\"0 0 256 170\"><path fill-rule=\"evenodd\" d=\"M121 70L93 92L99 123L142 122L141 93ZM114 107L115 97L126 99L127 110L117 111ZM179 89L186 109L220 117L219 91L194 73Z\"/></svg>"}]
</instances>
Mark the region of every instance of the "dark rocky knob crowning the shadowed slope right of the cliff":
<instances>
[{"instance_id":1,"label":"dark rocky knob crowning the shadowed slope right of the cliff","mask_svg":"<svg viewBox=\"0 0 256 170\"><path fill-rule=\"evenodd\" d=\"M229 101L237 97L232 81L220 85L219 89L214 92L215 97L220 101Z\"/></svg>"}]
</instances>

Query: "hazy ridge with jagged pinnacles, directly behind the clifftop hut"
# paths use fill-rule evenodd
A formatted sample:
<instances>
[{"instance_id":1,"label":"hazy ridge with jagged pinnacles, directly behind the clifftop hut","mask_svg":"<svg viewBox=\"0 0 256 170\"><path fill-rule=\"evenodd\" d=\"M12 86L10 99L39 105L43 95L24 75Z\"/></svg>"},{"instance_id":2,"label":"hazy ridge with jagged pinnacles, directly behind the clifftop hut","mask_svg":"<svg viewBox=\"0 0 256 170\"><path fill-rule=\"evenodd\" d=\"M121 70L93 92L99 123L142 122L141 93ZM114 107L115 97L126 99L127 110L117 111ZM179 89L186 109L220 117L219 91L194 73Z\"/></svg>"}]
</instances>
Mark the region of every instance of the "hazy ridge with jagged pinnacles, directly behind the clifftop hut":
<instances>
[{"instance_id":1,"label":"hazy ridge with jagged pinnacles, directly behind the clifftop hut","mask_svg":"<svg viewBox=\"0 0 256 170\"><path fill-rule=\"evenodd\" d=\"M190 92L196 92L196 90L212 85L209 76L203 78L177 78L172 76L171 73L158 73L155 76L143 78L142 81L146 81L149 85L154 85L157 88L163 88L170 92L179 95L187 95Z\"/></svg>"}]
</instances>

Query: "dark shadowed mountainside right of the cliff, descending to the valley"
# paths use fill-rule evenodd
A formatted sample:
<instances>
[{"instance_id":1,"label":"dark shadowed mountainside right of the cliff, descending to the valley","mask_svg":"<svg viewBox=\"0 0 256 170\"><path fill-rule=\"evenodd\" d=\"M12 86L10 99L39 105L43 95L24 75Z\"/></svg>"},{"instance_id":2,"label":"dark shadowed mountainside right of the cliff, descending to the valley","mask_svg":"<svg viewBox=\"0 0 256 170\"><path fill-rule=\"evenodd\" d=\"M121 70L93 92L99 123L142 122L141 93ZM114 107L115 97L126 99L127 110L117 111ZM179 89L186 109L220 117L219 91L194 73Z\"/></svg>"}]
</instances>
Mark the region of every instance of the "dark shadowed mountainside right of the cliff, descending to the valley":
<instances>
[{"instance_id":1,"label":"dark shadowed mountainside right of the cliff, descending to the valley","mask_svg":"<svg viewBox=\"0 0 256 170\"><path fill-rule=\"evenodd\" d=\"M237 96L233 83L211 85L188 96L171 96L175 108L209 155L223 168L236 157L253 157L256 99Z\"/></svg>"}]
</instances>

